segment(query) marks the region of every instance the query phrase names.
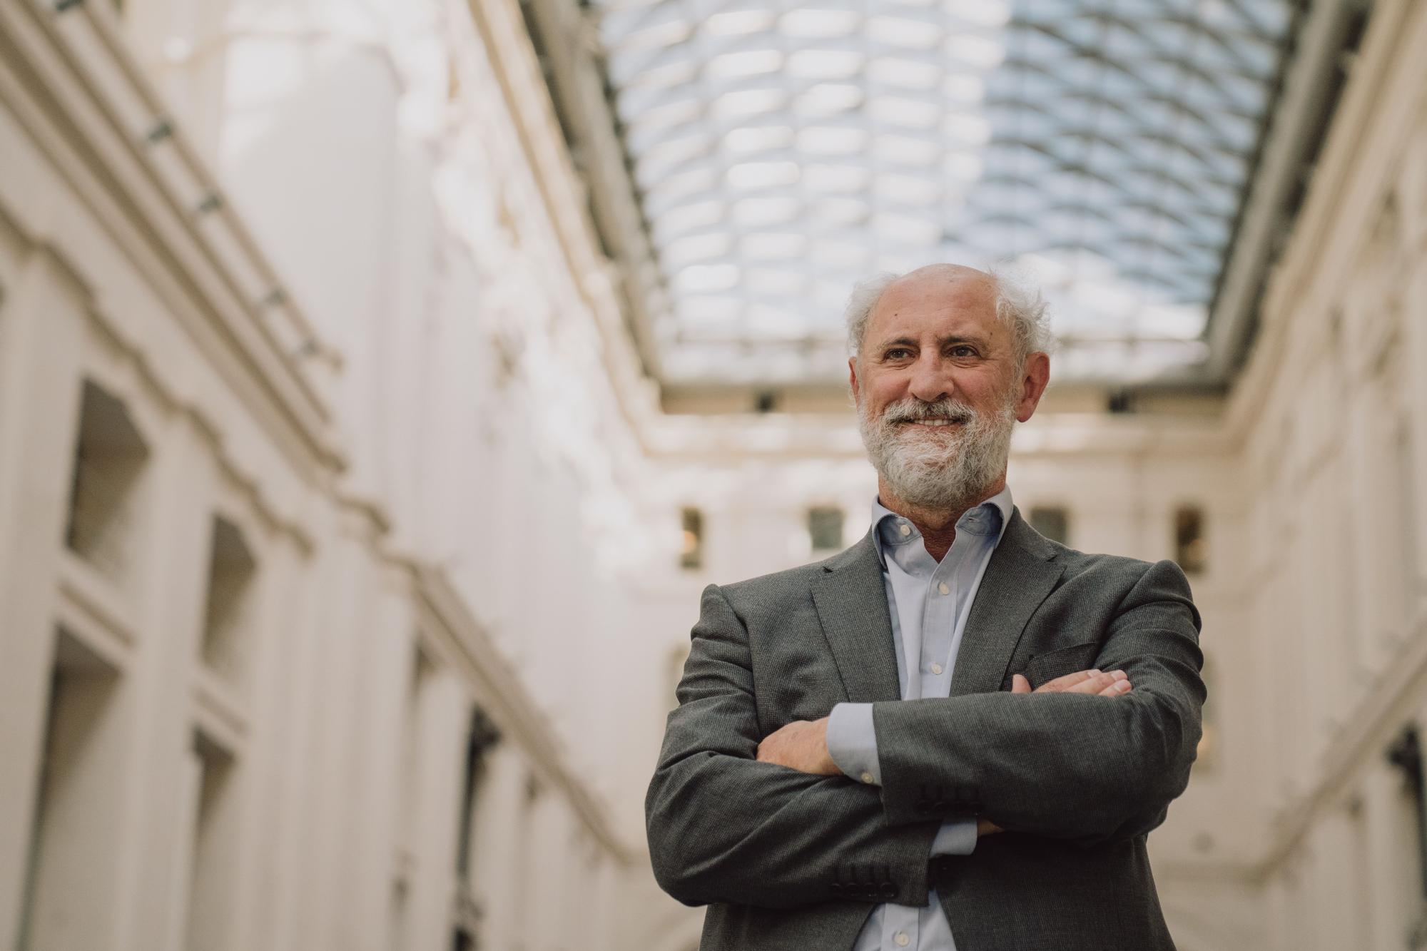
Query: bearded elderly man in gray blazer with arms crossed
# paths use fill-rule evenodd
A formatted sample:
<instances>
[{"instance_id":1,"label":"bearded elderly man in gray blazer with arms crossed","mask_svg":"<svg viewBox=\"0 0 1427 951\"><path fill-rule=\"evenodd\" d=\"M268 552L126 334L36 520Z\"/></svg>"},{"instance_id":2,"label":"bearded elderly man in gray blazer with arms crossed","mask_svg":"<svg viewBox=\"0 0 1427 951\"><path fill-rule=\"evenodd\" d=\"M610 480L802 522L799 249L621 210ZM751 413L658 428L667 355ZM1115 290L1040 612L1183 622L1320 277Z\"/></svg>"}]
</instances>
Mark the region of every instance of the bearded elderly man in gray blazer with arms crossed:
<instances>
[{"instance_id":1,"label":"bearded elderly man in gray blazer with arms crossed","mask_svg":"<svg viewBox=\"0 0 1427 951\"><path fill-rule=\"evenodd\" d=\"M645 802L702 948L1173 948L1146 834L1200 735L1173 561L1085 554L1012 504L1050 374L1039 294L933 266L848 313L878 471L826 561L709 585Z\"/></svg>"}]
</instances>

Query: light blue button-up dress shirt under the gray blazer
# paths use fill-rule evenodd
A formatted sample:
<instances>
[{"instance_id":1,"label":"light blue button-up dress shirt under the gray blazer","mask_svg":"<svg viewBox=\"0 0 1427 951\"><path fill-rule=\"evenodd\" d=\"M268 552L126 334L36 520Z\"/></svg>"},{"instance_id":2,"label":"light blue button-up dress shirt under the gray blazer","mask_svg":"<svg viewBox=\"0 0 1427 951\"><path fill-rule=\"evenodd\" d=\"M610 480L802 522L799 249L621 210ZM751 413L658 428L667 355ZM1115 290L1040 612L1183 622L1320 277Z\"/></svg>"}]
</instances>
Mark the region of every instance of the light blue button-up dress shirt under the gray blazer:
<instances>
[{"instance_id":1,"label":"light blue button-up dress shirt under the gray blazer","mask_svg":"<svg viewBox=\"0 0 1427 951\"><path fill-rule=\"evenodd\" d=\"M902 700L949 697L956 651L992 551L1010 521L1010 487L969 508L956 520L956 538L938 563L922 544L922 533L906 518L872 503L872 524L882 561L896 647ZM910 658L910 660L909 660ZM828 753L838 768L862 783L882 784L872 704L838 704L828 720ZM942 824L928 855L969 855L976 848L976 820ZM853 951L956 951L952 925L938 904L882 904L873 908Z\"/></svg>"}]
</instances>

